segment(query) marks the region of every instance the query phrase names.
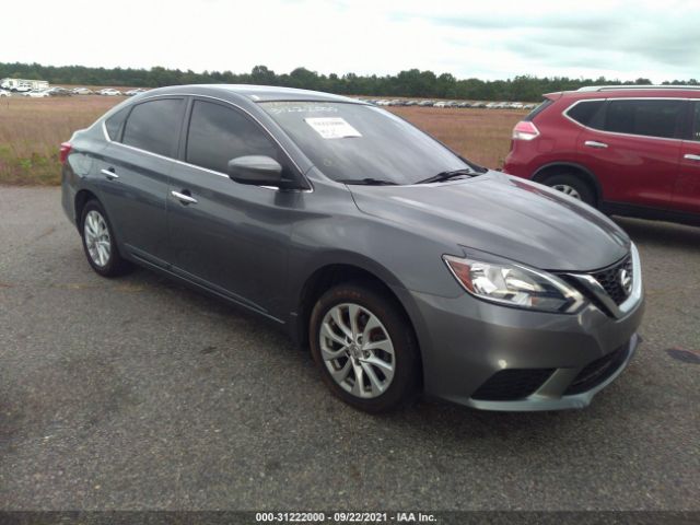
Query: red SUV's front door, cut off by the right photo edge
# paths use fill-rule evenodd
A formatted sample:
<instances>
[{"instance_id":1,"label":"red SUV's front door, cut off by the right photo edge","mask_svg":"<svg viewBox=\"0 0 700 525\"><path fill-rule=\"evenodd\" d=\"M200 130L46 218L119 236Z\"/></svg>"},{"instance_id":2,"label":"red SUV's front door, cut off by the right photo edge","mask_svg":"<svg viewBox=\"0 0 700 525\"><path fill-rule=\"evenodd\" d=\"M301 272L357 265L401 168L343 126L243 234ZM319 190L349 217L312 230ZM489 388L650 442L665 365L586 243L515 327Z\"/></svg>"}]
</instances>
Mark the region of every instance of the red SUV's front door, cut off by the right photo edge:
<instances>
[{"instance_id":1,"label":"red SUV's front door, cut off by the right photo edge","mask_svg":"<svg viewBox=\"0 0 700 525\"><path fill-rule=\"evenodd\" d=\"M673 208L675 211L700 213L700 101L692 102L691 115L690 137L681 145L680 174Z\"/></svg>"}]
</instances>

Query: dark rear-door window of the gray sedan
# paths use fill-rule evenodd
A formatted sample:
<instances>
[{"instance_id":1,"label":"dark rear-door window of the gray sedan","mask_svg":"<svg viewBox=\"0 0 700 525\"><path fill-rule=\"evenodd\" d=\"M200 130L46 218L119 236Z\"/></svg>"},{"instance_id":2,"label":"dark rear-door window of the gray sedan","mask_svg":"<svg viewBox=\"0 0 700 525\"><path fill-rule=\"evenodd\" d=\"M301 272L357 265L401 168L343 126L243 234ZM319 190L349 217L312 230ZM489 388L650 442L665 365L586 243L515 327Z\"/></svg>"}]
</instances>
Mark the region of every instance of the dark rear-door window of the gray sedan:
<instances>
[{"instance_id":1,"label":"dark rear-door window of the gray sedan","mask_svg":"<svg viewBox=\"0 0 700 525\"><path fill-rule=\"evenodd\" d=\"M161 98L133 106L122 142L163 156L175 156L185 110L183 98Z\"/></svg>"}]
</instances>

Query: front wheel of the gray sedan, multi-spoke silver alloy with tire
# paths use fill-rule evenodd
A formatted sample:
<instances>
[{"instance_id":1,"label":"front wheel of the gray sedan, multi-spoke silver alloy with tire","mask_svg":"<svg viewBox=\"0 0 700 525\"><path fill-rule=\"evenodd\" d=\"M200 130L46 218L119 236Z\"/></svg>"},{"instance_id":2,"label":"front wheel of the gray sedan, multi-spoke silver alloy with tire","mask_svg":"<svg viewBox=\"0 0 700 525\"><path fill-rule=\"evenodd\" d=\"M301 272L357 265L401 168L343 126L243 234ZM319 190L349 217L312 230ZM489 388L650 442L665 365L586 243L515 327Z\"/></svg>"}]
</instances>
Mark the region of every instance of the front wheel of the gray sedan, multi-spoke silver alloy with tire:
<instances>
[{"instance_id":1,"label":"front wheel of the gray sedan, multi-spoke silver alloy with tire","mask_svg":"<svg viewBox=\"0 0 700 525\"><path fill-rule=\"evenodd\" d=\"M364 282L338 284L311 315L311 350L324 382L361 410L394 410L413 399L418 345L396 301Z\"/></svg>"}]
</instances>

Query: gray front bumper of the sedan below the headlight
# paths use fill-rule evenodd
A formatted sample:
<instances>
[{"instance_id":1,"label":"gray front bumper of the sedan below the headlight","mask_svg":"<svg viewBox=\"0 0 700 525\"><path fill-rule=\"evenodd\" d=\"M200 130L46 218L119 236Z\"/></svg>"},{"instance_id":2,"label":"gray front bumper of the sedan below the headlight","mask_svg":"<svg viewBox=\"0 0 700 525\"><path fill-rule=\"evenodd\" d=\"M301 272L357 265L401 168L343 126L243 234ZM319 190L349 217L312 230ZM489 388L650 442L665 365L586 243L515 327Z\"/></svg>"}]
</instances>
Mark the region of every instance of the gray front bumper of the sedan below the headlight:
<instances>
[{"instance_id":1,"label":"gray front bumper of the sedan below the headlight","mask_svg":"<svg viewBox=\"0 0 700 525\"><path fill-rule=\"evenodd\" d=\"M411 295L425 394L486 410L587 406L629 364L644 311L641 290L620 318L593 304L560 315Z\"/></svg>"}]
</instances>

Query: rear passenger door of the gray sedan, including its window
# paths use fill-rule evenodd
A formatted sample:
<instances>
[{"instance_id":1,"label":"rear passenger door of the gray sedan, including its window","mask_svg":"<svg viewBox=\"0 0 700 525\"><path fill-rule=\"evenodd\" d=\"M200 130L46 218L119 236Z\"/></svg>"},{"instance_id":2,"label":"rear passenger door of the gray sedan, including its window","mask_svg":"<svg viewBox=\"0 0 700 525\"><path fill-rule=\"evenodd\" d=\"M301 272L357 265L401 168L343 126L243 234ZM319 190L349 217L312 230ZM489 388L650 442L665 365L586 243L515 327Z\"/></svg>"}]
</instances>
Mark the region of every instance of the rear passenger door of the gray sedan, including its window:
<instances>
[{"instance_id":1,"label":"rear passenger door of the gray sedan, including its window","mask_svg":"<svg viewBox=\"0 0 700 525\"><path fill-rule=\"evenodd\" d=\"M177 153L185 98L145 101L122 112L105 122L110 141L100 160L101 198L120 246L163 266L168 259L168 176Z\"/></svg>"}]
</instances>

